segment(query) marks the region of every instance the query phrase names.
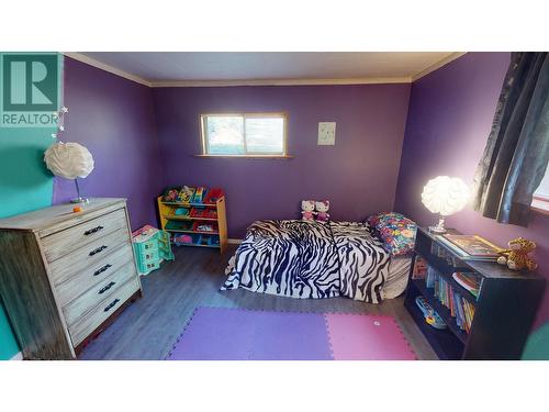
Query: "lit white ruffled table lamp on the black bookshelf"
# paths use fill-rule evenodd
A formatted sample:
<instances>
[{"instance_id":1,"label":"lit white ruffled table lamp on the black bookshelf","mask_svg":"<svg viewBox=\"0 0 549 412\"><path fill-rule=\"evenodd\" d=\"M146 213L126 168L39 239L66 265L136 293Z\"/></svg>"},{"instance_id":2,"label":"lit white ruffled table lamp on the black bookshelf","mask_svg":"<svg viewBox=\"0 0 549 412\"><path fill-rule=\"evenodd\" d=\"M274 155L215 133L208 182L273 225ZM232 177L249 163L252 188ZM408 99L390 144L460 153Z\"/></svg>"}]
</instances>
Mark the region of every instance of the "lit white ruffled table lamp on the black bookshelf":
<instances>
[{"instance_id":1,"label":"lit white ruffled table lamp on the black bookshelf","mask_svg":"<svg viewBox=\"0 0 549 412\"><path fill-rule=\"evenodd\" d=\"M423 188L422 203L432 213L439 213L436 226L429 226L435 233L444 233L445 216L459 212L469 201L469 187L458 177L437 176Z\"/></svg>"}]
</instances>

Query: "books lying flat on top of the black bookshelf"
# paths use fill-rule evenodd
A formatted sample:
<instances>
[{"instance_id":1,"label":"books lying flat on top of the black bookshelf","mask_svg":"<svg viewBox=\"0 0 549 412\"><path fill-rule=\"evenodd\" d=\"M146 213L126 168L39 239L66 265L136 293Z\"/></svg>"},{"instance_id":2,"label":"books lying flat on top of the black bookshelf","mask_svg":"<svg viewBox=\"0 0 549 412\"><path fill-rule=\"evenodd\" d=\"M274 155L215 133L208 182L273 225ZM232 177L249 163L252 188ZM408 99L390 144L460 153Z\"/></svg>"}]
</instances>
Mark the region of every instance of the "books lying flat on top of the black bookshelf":
<instances>
[{"instance_id":1,"label":"books lying flat on top of the black bookshelf","mask_svg":"<svg viewBox=\"0 0 549 412\"><path fill-rule=\"evenodd\" d=\"M437 240L463 260L495 261L500 247L477 235L438 235Z\"/></svg>"}]
</instances>

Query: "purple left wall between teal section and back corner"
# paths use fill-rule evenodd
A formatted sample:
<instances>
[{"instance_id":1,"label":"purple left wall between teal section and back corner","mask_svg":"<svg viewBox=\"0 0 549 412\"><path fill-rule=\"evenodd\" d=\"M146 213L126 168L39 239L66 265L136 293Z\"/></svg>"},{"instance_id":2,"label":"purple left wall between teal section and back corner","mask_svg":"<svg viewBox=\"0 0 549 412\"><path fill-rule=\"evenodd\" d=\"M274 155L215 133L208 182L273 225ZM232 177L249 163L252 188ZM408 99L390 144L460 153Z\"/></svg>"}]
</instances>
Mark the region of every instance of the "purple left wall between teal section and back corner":
<instances>
[{"instance_id":1,"label":"purple left wall between teal section and back corner","mask_svg":"<svg viewBox=\"0 0 549 412\"><path fill-rule=\"evenodd\" d=\"M93 155L96 169L80 180L90 197L127 198L134 229L156 225L155 196L161 190L152 89L65 57L64 142ZM74 181L56 178L54 203L76 197Z\"/></svg>"}]
</instances>

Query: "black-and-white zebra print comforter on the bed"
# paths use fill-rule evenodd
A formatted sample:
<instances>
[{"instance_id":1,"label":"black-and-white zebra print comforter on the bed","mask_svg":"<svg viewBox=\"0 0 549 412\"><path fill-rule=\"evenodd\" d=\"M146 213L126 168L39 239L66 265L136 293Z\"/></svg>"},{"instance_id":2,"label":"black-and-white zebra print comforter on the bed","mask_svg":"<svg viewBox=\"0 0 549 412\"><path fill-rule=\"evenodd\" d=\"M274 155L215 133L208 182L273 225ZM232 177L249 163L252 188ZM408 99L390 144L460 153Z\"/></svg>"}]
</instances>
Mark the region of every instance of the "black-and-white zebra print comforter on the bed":
<instances>
[{"instance_id":1,"label":"black-and-white zebra print comforter on the bed","mask_svg":"<svg viewBox=\"0 0 549 412\"><path fill-rule=\"evenodd\" d=\"M231 258L222 290L378 303L389 264L381 242L361 223L257 221Z\"/></svg>"}]
</instances>

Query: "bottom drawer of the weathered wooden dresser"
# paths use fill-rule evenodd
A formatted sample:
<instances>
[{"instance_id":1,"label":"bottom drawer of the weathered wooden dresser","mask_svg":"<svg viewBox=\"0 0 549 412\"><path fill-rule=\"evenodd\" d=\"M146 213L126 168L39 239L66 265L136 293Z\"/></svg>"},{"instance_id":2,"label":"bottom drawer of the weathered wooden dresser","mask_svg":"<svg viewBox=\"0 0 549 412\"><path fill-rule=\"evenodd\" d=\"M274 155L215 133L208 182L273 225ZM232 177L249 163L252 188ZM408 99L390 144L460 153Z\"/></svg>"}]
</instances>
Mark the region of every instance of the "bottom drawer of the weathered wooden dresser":
<instances>
[{"instance_id":1,"label":"bottom drawer of the weathered wooden dresser","mask_svg":"<svg viewBox=\"0 0 549 412\"><path fill-rule=\"evenodd\" d=\"M121 286L115 293L112 293L108 299L101 301L99 305L69 326L68 330L70 338L72 339L72 345L78 346L138 289L139 281L137 278L128 280Z\"/></svg>"}]
</instances>

